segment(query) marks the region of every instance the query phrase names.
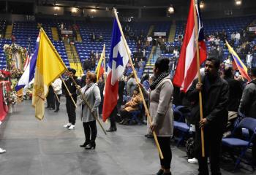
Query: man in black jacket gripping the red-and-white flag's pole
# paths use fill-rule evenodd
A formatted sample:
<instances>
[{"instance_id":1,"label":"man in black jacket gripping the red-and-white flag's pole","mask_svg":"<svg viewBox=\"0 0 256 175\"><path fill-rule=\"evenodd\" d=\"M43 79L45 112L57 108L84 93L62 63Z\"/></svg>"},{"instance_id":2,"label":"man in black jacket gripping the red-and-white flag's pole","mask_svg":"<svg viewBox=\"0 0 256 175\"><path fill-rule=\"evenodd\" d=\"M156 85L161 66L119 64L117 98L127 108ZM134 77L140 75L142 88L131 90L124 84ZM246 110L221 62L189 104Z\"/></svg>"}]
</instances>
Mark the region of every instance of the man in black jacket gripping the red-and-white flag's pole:
<instances>
[{"instance_id":1,"label":"man in black jacket gripping the red-and-white flag's pole","mask_svg":"<svg viewBox=\"0 0 256 175\"><path fill-rule=\"evenodd\" d=\"M227 125L227 101L229 88L227 82L219 77L219 60L208 58L205 64L205 76L202 83L197 79L187 92L189 101L192 102L192 118L195 120L195 154L198 160L199 175L208 175L207 158L211 160L211 174L221 174L219 156L222 134ZM203 119L200 120L198 92L203 97ZM202 157L200 128L203 128L206 156Z\"/></svg>"}]
</instances>

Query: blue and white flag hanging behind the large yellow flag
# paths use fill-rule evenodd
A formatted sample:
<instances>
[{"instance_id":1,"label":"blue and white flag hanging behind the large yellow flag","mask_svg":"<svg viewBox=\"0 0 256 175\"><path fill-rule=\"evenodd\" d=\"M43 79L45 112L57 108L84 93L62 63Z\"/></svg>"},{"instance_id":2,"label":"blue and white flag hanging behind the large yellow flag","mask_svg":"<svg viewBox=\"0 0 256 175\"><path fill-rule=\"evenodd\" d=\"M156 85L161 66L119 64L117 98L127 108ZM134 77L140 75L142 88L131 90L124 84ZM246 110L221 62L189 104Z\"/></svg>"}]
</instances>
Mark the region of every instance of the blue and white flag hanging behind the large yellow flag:
<instances>
[{"instance_id":1,"label":"blue and white flag hanging behind the large yellow flag","mask_svg":"<svg viewBox=\"0 0 256 175\"><path fill-rule=\"evenodd\" d=\"M37 37L37 43L36 43L36 49L34 51L34 55L32 55L31 60L28 61L28 65L26 66L25 71L23 72L22 76L18 81L18 84L15 87L16 91L20 90L21 88L24 88L26 85L29 85L29 82L31 82L32 79L34 79L34 70L37 63L39 39L40 39L40 36Z\"/></svg>"}]
</instances>

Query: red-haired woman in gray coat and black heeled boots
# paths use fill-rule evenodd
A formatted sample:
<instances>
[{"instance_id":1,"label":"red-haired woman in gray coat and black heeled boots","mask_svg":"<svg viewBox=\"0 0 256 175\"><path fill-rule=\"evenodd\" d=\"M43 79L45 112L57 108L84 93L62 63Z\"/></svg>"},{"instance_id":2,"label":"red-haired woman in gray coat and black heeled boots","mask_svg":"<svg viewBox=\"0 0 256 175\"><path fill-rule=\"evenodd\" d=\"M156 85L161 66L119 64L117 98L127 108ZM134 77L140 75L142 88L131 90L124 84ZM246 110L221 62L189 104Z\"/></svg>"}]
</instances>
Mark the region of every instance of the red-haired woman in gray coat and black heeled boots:
<instances>
[{"instance_id":1,"label":"red-haired woman in gray coat and black heeled boots","mask_svg":"<svg viewBox=\"0 0 256 175\"><path fill-rule=\"evenodd\" d=\"M81 89L81 92L83 93L83 96L85 96L86 100L88 101L89 105L91 106L91 110L89 107L84 104L84 102L81 102L81 112L80 112L80 118L83 121L83 128L84 128L84 134L86 136L86 141L84 144L80 145L80 147L85 147L86 149L95 149L95 139L97 136L97 126L96 126L96 119L95 117L98 117L99 111L98 106L100 104L101 98L100 98L100 92L99 87L97 85L97 76L94 73L87 73L86 74L86 85ZM78 89L80 86L77 87ZM77 90L77 94L80 94L80 90ZM81 96L80 96L80 99ZM94 113L94 116L93 116Z\"/></svg>"}]
</instances>

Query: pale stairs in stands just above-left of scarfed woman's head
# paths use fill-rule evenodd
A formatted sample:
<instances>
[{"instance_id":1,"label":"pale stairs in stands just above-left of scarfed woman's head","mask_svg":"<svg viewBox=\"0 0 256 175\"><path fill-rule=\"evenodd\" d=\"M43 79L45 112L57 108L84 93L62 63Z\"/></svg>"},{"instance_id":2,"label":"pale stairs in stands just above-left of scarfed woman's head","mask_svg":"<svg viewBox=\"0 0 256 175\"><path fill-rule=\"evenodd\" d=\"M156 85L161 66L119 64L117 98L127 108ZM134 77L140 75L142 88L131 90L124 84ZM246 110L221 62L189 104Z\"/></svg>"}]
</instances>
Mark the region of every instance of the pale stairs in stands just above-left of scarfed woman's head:
<instances>
[{"instance_id":1,"label":"pale stairs in stands just above-left of scarfed woman's head","mask_svg":"<svg viewBox=\"0 0 256 175\"><path fill-rule=\"evenodd\" d=\"M146 63L145 69L143 71L143 76L145 74L153 74L154 63L157 61L157 58L161 55L160 47L153 46L148 57L148 62Z\"/></svg>"}]
</instances>

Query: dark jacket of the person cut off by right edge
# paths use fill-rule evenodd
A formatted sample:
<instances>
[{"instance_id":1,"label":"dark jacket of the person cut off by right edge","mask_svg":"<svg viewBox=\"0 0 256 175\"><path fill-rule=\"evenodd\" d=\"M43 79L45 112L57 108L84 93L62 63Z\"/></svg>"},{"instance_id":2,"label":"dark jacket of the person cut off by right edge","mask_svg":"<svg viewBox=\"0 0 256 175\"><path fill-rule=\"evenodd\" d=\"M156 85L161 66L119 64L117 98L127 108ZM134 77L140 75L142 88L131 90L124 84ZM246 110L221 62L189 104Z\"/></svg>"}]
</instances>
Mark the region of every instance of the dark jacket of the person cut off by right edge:
<instances>
[{"instance_id":1,"label":"dark jacket of the person cut off by right edge","mask_svg":"<svg viewBox=\"0 0 256 175\"><path fill-rule=\"evenodd\" d=\"M246 117L256 118L256 79L244 88L239 111Z\"/></svg>"}]
</instances>

